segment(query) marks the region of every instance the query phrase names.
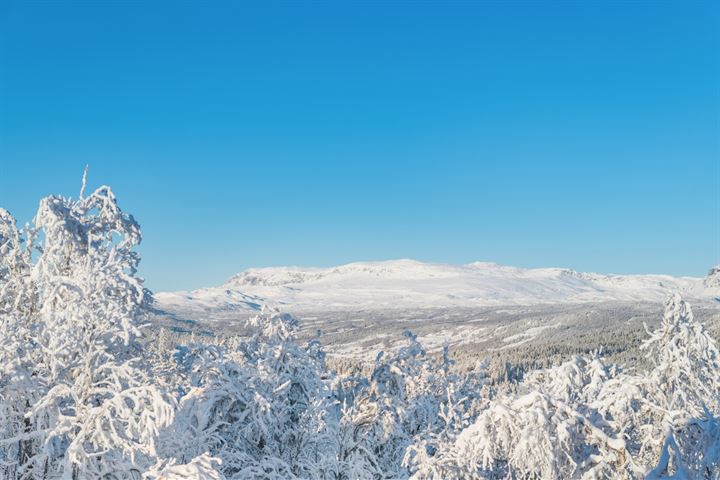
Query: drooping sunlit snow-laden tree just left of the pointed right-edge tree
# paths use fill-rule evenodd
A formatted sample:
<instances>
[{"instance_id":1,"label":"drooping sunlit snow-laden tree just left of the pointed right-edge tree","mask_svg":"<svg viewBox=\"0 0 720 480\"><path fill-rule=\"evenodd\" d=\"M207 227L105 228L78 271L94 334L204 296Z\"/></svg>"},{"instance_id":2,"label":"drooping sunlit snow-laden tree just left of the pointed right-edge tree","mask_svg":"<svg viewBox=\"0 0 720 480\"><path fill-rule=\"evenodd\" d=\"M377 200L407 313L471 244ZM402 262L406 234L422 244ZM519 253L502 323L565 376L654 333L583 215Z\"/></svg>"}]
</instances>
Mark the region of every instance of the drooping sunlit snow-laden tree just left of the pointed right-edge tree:
<instances>
[{"instance_id":1,"label":"drooping sunlit snow-laden tree just left of the pointed right-edge tree","mask_svg":"<svg viewBox=\"0 0 720 480\"><path fill-rule=\"evenodd\" d=\"M624 441L588 403L611 373L576 357L498 395L417 478L609 478L625 468ZM612 474L612 475L609 475Z\"/></svg>"}]
</instances>

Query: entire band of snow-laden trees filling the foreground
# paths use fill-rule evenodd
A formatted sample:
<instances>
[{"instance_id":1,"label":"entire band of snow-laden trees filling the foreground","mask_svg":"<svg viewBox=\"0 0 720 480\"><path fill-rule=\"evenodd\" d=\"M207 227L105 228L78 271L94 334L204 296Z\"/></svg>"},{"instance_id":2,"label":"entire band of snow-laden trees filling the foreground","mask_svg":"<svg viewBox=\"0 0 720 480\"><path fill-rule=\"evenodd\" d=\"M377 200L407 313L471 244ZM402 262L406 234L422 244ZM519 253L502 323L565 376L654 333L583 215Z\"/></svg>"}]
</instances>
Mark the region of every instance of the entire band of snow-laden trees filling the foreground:
<instances>
[{"instance_id":1,"label":"entire band of snow-laden trees filling the foreground","mask_svg":"<svg viewBox=\"0 0 720 480\"><path fill-rule=\"evenodd\" d=\"M165 329L140 227L109 187L0 209L0 477L39 479L720 479L720 353L679 295L642 345L522 380L463 374L406 332L367 372L264 308L243 337Z\"/></svg>"}]
</instances>

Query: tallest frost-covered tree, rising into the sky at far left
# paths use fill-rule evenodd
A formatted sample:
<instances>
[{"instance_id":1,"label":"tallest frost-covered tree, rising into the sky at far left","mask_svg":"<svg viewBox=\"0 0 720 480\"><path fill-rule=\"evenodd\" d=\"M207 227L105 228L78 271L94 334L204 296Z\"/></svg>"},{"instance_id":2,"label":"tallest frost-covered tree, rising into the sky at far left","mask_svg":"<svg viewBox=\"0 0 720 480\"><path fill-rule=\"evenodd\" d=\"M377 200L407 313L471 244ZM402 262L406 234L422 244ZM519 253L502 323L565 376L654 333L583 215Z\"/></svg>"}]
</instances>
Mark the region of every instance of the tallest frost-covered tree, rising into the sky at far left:
<instances>
[{"instance_id":1,"label":"tallest frost-covered tree, rising into the sky at far left","mask_svg":"<svg viewBox=\"0 0 720 480\"><path fill-rule=\"evenodd\" d=\"M137 362L148 301L136 276L139 226L109 187L43 199L24 249L14 221L0 217L2 324L12 332L2 355L15 355L3 362L0 396L6 411L25 399L2 423L7 476L137 478L160 460L158 433L174 413Z\"/></svg>"}]
</instances>

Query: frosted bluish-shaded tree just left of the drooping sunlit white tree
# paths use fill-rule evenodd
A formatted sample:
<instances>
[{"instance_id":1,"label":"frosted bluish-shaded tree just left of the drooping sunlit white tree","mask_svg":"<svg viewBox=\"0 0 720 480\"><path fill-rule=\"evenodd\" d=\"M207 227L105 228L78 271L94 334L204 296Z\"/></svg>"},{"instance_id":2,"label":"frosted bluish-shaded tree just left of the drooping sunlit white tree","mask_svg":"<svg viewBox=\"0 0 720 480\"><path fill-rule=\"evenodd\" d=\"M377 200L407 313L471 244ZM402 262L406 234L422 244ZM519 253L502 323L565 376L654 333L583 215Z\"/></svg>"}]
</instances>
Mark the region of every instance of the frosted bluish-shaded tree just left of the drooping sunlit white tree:
<instances>
[{"instance_id":1,"label":"frosted bluish-shaded tree just left of the drooping sunlit white tree","mask_svg":"<svg viewBox=\"0 0 720 480\"><path fill-rule=\"evenodd\" d=\"M391 355L378 354L367 381L356 383L343 415L343 444L357 461L370 465L379 478L402 478L422 470L425 459L462 427L471 396L463 387L478 387L450 371L444 350L438 361L417 337L405 332L407 344Z\"/></svg>"}]
</instances>

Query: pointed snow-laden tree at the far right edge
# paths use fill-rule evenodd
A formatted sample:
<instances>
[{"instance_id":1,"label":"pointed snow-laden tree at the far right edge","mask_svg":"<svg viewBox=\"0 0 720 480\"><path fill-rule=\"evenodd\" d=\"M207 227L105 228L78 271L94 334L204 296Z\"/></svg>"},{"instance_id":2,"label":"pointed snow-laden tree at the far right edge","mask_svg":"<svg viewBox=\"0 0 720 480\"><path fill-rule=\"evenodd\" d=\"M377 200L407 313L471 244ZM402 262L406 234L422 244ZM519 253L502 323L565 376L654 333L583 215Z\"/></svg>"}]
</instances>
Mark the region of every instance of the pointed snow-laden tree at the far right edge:
<instances>
[{"instance_id":1,"label":"pointed snow-laden tree at the far right edge","mask_svg":"<svg viewBox=\"0 0 720 480\"><path fill-rule=\"evenodd\" d=\"M641 348L654 363L644 382L647 418L653 421L640 431L643 450L653 457L659 451L650 476L714 472L712 478L719 478L720 352L715 341L677 294L668 298L660 327L649 333Z\"/></svg>"}]
</instances>

